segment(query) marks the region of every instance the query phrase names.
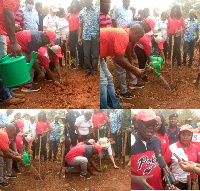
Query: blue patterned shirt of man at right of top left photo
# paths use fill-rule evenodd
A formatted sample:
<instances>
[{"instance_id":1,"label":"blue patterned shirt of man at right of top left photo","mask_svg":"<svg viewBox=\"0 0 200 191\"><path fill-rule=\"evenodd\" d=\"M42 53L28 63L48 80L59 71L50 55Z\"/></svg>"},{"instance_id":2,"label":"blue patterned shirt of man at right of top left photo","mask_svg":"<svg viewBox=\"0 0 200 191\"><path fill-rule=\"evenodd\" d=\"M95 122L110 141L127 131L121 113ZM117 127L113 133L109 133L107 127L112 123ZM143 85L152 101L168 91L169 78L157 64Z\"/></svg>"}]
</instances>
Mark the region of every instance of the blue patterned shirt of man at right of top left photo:
<instances>
[{"instance_id":1,"label":"blue patterned shirt of man at right of top left photo","mask_svg":"<svg viewBox=\"0 0 200 191\"><path fill-rule=\"evenodd\" d=\"M99 7L92 6L90 9L86 7L80 11L79 22L83 23L83 40L91 40L99 36Z\"/></svg>"}]
</instances>

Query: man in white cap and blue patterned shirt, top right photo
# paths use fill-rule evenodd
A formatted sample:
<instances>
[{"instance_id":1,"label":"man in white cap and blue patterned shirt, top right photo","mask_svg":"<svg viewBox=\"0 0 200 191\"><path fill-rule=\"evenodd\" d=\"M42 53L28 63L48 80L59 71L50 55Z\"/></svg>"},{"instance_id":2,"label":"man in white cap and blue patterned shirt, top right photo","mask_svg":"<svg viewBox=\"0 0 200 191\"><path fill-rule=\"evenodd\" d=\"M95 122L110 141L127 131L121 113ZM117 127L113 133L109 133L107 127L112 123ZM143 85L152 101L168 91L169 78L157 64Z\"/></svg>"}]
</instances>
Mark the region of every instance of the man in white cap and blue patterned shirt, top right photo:
<instances>
[{"instance_id":1,"label":"man in white cap and blue patterned shirt, top right photo","mask_svg":"<svg viewBox=\"0 0 200 191\"><path fill-rule=\"evenodd\" d=\"M196 11L191 9L189 11L189 18L185 19L185 33L183 36L184 45L183 45L183 65L186 65L187 54L189 53L189 64L188 66L192 67L192 60L194 56L194 46L196 40L199 39L199 25L198 20L195 18Z\"/></svg>"}]
</instances>

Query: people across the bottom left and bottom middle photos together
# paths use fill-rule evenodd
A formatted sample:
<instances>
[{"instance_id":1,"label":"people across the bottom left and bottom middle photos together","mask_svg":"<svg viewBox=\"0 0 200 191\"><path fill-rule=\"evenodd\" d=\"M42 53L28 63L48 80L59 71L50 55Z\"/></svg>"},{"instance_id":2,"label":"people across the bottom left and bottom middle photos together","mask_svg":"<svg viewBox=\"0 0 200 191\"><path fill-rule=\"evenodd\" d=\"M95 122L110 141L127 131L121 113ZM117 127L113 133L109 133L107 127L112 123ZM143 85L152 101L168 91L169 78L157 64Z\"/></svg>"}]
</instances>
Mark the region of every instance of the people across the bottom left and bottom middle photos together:
<instances>
[{"instance_id":1,"label":"people across the bottom left and bottom middle photos together","mask_svg":"<svg viewBox=\"0 0 200 191\"><path fill-rule=\"evenodd\" d=\"M126 155L126 163L130 166L131 131L131 110L95 109L79 113L69 109L66 116L57 113L50 120L46 111L42 110L37 116L31 115L28 110L23 115L13 109L2 110L0 185L9 185L4 180L4 160L5 179L14 179L17 174L21 174L18 162L23 161L26 153L30 154L31 160L43 161L44 165L48 160L55 162L63 156L66 173L79 172L86 179L91 175L98 175L101 170L96 165L99 160L95 159L95 155L101 160L110 159L115 169L119 168L116 161L121 162L122 155ZM124 140L127 140L126 143ZM58 159L59 147L61 157ZM103 166L103 161L101 165Z\"/></svg>"}]
</instances>

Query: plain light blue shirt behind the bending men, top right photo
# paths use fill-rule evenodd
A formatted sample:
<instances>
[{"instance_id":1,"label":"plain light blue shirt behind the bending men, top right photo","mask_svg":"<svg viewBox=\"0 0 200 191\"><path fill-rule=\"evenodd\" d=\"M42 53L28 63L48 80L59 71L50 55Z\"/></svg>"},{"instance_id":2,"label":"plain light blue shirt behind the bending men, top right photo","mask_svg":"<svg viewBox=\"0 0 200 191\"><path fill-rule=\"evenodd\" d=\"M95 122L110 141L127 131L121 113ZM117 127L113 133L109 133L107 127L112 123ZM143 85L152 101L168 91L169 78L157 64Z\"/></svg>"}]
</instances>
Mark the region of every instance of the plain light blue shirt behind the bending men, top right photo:
<instances>
[{"instance_id":1,"label":"plain light blue shirt behind the bending men, top right photo","mask_svg":"<svg viewBox=\"0 0 200 191\"><path fill-rule=\"evenodd\" d=\"M133 13L124 6L117 7L113 11L112 19L117 21L117 28L122 28L124 25L133 21Z\"/></svg>"}]
</instances>

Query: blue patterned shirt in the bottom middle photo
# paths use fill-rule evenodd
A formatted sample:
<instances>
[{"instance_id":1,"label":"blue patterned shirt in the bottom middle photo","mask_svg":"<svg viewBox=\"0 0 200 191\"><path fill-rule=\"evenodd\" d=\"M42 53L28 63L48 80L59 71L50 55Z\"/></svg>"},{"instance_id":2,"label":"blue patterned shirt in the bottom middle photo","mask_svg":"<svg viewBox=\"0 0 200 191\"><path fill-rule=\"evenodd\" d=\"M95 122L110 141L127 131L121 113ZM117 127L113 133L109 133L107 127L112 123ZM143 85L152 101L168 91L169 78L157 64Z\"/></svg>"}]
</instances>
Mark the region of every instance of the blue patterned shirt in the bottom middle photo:
<instances>
[{"instance_id":1,"label":"blue patterned shirt in the bottom middle photo","mask_svg":"<svg viewBox=\"0 0 200 191\"><path fill-rule=\"evenodd\" d=\"M122 122L122 110L115 109L113 112L110 113L110 126L111 126L111 133L116 133L121 126Z\"/></svg>"}]
</instances>

